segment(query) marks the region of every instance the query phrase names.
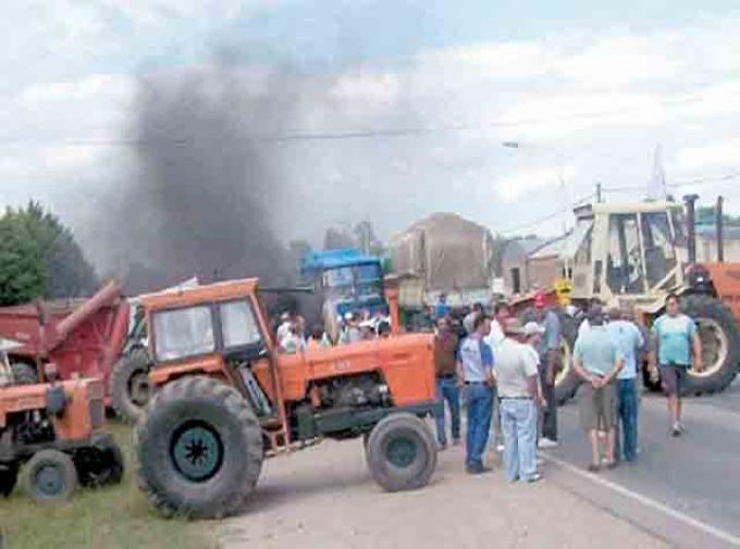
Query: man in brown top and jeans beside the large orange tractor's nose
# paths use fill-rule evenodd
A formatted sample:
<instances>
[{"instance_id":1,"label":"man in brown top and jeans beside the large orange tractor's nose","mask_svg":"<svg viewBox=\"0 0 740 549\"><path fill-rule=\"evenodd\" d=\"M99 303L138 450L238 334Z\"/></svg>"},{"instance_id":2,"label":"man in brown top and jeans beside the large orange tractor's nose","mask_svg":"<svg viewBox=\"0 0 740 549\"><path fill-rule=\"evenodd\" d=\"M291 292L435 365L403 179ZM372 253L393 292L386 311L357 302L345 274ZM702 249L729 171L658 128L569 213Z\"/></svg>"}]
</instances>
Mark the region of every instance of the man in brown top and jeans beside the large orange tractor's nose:
<instances>
[{"instance_id":1,"label":"man in brown top and jeans beside the large orange tractor's nose","mask_svg":"<svg viewBox=\"0 0 740 549\"><path fill-rule=\"evenodd\" d=\"M457 388L455 353L457 335L453 332L449 319L436 320L434 336L434 367L436 370L436 398L442 401L442 413L436 417L436 440L442 449L447 448L447 434L444 421L444 403L449 407L452 416L453 444L460 444L460 395Z\"/></svg>"}]
</instances>

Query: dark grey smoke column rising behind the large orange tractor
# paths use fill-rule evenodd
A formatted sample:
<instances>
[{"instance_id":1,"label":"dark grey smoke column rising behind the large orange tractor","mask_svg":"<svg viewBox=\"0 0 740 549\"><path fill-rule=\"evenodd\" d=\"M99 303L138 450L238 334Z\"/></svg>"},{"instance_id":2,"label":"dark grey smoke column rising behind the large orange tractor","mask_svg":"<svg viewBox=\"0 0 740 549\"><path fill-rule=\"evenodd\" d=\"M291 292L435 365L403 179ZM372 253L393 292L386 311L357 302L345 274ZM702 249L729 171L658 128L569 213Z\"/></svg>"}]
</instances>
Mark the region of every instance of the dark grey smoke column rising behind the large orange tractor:
<instances>
[{"instance_id":1,"label":"dark grey smoke column rising behind the large orange tractor","mask_svg":"<svg viewBox=\"0 0 740 549\"><path fill-rule=\"evenodd\" d=\"M273 215L289 189L260 139L291 124L299 95L289 80L220 66L140 80L136 172L104 221L120 227L130 294L192 276L281 283L295 271Z\"/></svg>"}]
</instances>

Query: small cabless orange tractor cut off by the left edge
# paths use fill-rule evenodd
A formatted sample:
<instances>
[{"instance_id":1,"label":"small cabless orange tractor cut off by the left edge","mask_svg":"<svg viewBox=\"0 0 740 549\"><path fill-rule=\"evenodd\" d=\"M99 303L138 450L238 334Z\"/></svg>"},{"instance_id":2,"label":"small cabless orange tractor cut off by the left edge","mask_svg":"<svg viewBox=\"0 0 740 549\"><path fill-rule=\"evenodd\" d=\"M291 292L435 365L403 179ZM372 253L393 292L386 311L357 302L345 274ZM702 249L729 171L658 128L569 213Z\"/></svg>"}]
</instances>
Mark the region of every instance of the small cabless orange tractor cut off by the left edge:
<instances>
[{"instance_id":1,"label":"small cabless orange tractor cut off by the left edge","mask_svg":"<svg viewBox=\"0 0 740 549\"><path fill-rule=\"evenodd\" d=\"M37 501L66 499L78 483L119 483L121 451L100 431L102 382L16 385L7 357L9 344L0 339L0 495L10 496L24 463L26 491ZM54 378L54 367L47 369Z\"/></svg>"}]
</instances>

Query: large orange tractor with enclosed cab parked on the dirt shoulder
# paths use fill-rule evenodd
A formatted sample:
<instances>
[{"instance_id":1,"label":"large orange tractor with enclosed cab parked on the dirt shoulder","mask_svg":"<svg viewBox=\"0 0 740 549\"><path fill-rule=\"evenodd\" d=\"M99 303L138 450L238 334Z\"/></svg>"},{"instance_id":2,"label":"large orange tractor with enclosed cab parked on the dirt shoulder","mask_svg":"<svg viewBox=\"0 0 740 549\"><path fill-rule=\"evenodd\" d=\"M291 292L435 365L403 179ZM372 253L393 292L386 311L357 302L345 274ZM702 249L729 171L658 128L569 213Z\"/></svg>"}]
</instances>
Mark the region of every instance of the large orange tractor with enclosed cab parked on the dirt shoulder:
<instances>
[{"instance_id":1,"label":"large orange tractor with enclosed cab parked on the dirt shoulder","mask_svg":"<svg viewBox=\"0 0 740 549\"><path fill-rule=\"evenodd\" d=\"M397 294L388 291L398 329ZM219 517L255 488L267 456L365 438L386 490L424 486L440 405L430 335L279 353L256 279L141 298L157 391L137 425L139 486L165 515Z\"/></svg>"}]
</instances>

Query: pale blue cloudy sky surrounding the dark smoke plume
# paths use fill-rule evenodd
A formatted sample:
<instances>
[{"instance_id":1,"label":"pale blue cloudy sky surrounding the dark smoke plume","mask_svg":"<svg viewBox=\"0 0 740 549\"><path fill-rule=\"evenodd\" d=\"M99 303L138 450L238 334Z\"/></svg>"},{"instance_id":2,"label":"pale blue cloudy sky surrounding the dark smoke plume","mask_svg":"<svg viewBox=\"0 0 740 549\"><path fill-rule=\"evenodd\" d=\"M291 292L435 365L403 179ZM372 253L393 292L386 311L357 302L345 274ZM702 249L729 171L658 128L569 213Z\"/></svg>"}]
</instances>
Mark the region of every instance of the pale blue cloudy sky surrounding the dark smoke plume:
<instances>
[{"instance_id":1,"label":"pale blue cloudy sky surrounding the dark smoke plume","mask_svg":"<svg viewBox=\"0 0 740 549\"><path fill-rule=\"evenodd\" d=\"M0 207L40 200L106 263L94 213L136 176L141 78L225 63L245 89L289 74L271 93L298 98L278 134L255 130L293 189L275 200L284 240L366 219L388 238L436 211L556 234L597 182L640 199L657 146L670 192L740 212L740 8L601 4L14 0Z\"/></svg>"}]
</instances>

